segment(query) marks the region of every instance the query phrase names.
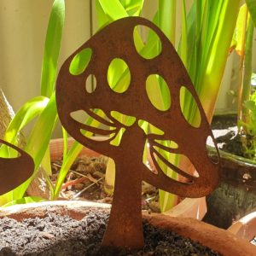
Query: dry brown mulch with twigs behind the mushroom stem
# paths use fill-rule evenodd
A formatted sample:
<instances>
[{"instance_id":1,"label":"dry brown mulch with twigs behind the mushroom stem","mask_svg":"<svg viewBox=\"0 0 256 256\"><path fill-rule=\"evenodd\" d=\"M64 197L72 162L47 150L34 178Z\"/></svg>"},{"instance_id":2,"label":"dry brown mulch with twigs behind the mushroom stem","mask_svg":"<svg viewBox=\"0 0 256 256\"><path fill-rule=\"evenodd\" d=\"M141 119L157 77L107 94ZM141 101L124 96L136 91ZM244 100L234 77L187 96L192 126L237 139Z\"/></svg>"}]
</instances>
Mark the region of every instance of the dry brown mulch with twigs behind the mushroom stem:
<instances>
[{"instance_id":1,"label":"dry brown mulch with twigs behind the mushroom stem","mask_svg":"<svg viewBox=\"0 0 256 256\"><path fill-rule=\"evenodd\" d=\"M60 199L112 203L113 195L104 189L108 157L80 156L67 173L62 185ZM56 182L62 161L52 162L52 183ZM149 183L142 183L142 209L160 212L158 189Z\"/></svg>"}]
</instances>

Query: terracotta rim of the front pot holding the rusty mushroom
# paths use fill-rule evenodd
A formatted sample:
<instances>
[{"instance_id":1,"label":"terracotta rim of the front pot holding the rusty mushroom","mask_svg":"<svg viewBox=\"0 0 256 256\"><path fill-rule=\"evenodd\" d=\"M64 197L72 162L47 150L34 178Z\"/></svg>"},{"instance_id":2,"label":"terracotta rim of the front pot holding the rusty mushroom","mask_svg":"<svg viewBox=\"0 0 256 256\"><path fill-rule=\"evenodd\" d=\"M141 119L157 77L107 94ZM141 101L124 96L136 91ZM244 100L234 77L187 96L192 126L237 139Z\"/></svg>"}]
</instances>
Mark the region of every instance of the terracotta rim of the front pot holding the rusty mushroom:
<instances>
[{"instance_id":1,"label":"terracotta rim of the front pot holding the rusty mushroom","mask_svg":"<svg viewBox=\"0 0 256 256\"><path fill-rule=\"evenodd\" d=\"M109 205L86 201L50 201L15 205L0 209L0 218L9 217L17 220L23 218L43 218L49 212L67 214L71 218L81 219L87 212L104 209L109 211ZM218 229L210 224L202 223L194 218L173 218L163 214L143 214L150 224L177 234L199 241L202 245L226 256L256 255L256 247L229 231Z\"/></svg>"}]
</instances>

